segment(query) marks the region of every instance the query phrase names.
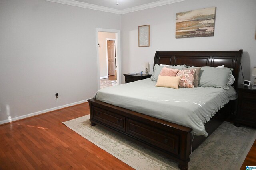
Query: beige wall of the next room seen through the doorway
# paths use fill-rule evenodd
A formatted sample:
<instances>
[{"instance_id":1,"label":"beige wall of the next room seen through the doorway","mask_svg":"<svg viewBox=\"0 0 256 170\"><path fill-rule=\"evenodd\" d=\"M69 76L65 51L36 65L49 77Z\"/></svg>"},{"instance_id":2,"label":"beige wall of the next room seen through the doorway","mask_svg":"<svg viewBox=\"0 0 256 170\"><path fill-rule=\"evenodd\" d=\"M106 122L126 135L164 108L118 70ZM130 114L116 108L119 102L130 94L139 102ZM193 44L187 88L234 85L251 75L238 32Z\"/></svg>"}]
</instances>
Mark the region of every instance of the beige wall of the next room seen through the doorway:
<instances>
[{"instance_id":1,"label":"beige wall of the next room seen through the doorway","mask_svg":"<svg viewBox=\"0 0 256 170\"><path fill-rule=\"evenodd\" d=\"M116 33L98 32L99 50L99 62L100 62L100 77L107 77L107 54L106 54L106 38L116 38Z\"/></svg>"}]
</instances>

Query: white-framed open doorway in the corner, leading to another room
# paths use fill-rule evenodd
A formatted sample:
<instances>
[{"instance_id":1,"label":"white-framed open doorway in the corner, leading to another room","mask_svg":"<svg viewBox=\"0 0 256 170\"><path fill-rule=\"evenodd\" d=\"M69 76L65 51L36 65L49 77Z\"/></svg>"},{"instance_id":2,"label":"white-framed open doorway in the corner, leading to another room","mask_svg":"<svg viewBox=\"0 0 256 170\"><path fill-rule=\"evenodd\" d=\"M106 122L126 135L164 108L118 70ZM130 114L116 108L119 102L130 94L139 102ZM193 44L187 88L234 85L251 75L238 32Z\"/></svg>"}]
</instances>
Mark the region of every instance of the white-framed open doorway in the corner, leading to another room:
<instances>
[{"instance_id":1,"label":"white-framed open doorway in the corner, leading to another room","mask_svg":"<svg viewBox=\"0 0 256 170\"><path fill-rule=\"evenodd\" d=\"M96 40L98 89L103 81L109 86L120 84L120 30L96 28Z\"/></svg>"}]
</instances>

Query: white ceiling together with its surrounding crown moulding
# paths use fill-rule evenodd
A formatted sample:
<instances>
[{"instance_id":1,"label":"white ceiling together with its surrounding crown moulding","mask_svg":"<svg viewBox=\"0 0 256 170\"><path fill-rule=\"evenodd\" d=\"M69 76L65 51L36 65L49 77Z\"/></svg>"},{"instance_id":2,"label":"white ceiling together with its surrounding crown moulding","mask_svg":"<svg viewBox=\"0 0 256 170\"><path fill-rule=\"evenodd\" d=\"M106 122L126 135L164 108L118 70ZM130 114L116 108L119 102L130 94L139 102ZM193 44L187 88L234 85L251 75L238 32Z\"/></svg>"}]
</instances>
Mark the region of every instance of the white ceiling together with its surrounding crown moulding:
<instances>
[{"instance_id":1,"label":"white ceiling together with its surrounding crown moulding","mask_svg":"<svg viewBox=\"0 0 256 170\"><path fill-rule=\"evenodd\" d=\"M154 8L184 0L46 0L116 14ZM118 5L116 5L118 2Z\"/></svg>"}]
</instances>

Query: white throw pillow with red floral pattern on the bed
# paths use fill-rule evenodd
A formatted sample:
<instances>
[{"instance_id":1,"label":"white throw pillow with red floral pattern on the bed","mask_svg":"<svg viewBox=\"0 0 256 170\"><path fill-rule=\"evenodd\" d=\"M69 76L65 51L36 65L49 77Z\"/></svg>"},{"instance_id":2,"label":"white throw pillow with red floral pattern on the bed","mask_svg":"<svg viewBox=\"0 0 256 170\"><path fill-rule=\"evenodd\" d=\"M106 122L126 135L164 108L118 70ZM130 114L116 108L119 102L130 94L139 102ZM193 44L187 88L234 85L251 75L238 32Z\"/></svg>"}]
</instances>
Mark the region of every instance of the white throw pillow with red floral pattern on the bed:
<instances>
[{"instance_id":1,"label":"white throw pillow with red floral pattern on the bed","mask_svg":"<svg viewBox=\"0 0 256 170\"><path fill-rule=\"evenodd\" d=\"M196 69L192 70L180 70L176 76L181 76L180 78L180 87L186 87L186 88L194 88L194 75L195 75Z\"/></svg>"}]
</instances>

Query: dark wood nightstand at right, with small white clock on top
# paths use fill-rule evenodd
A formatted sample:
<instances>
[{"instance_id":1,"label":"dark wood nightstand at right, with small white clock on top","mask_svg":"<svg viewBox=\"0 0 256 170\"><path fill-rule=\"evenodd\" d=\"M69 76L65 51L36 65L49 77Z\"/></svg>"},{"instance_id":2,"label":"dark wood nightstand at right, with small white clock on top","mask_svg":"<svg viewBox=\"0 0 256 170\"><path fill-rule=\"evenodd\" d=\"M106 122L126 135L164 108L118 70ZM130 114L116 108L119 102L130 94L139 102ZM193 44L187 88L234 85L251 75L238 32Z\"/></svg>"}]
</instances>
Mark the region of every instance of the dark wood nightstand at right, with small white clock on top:
<instances>
[{"instance_id":1,"label":"dark wood nightstand at right, with small white clock on top","mask_svg":"<svg viewBox=\"0 0 256 170\"><path fill-rule=\"evenodd\" d=\"M235 126L240 124L256 127L256 90L252 86L240 85L238 90L238 108Z\"/></svg>"}]
</instances>

